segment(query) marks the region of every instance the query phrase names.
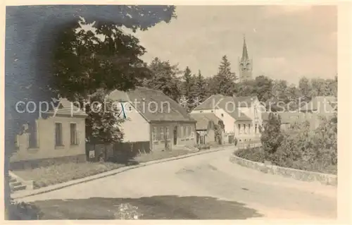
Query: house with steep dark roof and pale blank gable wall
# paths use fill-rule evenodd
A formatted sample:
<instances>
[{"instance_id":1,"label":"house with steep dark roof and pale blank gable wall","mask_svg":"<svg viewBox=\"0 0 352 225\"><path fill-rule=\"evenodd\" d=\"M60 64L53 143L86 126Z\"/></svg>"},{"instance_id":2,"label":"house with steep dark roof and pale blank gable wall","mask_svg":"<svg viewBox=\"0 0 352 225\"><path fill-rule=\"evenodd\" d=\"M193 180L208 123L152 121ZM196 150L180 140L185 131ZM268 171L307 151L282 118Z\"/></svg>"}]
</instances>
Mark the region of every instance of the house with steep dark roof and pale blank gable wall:
<instances>
[{"instance_id":1,"label":"house with steep dark roof and pale blank gable wall","mask_svg":"<svg viewBox=\"0 0 352 225\"><path fill-rule=\"evenodd\" d=\"M136 87L128 92L115 90L108 97L120 105L123 142L144 142L153 151L196 144L196 121L163 92Z\"/></svg>"}]
</instances>

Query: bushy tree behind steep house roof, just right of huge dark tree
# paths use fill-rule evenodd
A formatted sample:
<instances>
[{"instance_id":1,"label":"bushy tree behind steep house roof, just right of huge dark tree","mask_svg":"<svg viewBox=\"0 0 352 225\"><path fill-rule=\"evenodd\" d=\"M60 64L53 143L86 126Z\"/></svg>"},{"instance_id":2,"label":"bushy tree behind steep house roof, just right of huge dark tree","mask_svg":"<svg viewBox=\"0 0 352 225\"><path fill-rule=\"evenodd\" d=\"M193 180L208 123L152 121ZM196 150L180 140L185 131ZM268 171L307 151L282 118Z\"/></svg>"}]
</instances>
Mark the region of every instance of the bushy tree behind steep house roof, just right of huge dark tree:
<instances>
[{"instance_id":1,"label":"bushy tree behind steep house roof, just right of huge dark tree","mask_svg":"<svg viewBox=\"0 0 352 225\"><path fill-rule=\"evenodd\" d=\"M180 79L177 75L180 73L177 65L171 65L169 61L161 61L158 58L153 59L149 64L151 78L144 80L144 86L161 90L176 102L181 97Z\"/></svg>"}]
</instances>

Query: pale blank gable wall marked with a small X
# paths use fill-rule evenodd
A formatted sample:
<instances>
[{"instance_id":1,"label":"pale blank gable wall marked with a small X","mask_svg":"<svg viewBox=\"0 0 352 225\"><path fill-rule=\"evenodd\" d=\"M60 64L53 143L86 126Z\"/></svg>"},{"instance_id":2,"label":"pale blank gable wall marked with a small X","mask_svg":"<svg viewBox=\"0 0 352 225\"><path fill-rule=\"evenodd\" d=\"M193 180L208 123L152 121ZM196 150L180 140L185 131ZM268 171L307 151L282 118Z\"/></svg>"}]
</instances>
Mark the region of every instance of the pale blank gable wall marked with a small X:
<instances>
[{"instance_id":1,"label":"pale blank gable wall marked with a small X","mask_svg":"<svg viewBox=\"0 0 352 225\"><path fill-rule=\"evenodd\" d=\"M123 104L125 121L120 124L123 132L123 142L145 142L150 140L150 125L148 121L130 103Z\"/></svg>"}]
</instances>

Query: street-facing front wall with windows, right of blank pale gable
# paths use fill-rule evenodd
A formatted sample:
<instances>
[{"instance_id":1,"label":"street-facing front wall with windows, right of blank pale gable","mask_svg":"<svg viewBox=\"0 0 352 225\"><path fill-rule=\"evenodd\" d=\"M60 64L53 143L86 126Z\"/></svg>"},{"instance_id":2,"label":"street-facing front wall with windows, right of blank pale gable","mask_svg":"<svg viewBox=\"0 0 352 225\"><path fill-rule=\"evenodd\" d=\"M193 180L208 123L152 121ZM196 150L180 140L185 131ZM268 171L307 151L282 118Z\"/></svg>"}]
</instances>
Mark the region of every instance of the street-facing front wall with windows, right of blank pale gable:
<instances>
[{"instance_id":1,"label":"street-facing front wall with windows, right of blank pale gable","mask_svg":"<svg viewBox=\"0 0 352 225\"><path fill-rule=\"evenodd\" d=\"M184 132L184 127L189 128ZM168 128L169 135L168 138L165 135L165 130ZM177 128L177 143L174 143L174 129ZM161 133L163 129L163 135ZM159 122L151 123L151 149L153 151L158 150L172 150L175 146L182 145L195 145L196 144L196 123L194 122ZM156 134L154 134L156 131ZM156 135L156 138L153 138ZM167 142L168 146L165 146Z\"/></svg>"}]
</instances>

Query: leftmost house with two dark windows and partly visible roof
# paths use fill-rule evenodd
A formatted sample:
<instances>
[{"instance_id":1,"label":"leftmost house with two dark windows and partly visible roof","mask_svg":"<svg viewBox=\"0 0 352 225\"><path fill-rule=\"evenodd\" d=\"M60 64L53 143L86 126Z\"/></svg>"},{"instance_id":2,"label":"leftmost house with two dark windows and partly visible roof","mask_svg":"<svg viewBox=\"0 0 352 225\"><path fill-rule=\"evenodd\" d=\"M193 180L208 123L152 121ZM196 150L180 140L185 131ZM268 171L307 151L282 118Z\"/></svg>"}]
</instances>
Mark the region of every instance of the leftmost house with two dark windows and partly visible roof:
<instances>
[{"instance_id":1,"label":"leftmost house with two dark windows and partly visible roof","mask_svg":"<svg viewBox=\"0 0 352 225\"><path fill-rule=\"evenodd\" d=\"M60 99L57 107L23 126L11 162L85 155L87 114L67 99Z\"/></svg>"}]
</instances>

